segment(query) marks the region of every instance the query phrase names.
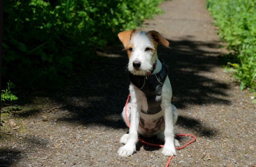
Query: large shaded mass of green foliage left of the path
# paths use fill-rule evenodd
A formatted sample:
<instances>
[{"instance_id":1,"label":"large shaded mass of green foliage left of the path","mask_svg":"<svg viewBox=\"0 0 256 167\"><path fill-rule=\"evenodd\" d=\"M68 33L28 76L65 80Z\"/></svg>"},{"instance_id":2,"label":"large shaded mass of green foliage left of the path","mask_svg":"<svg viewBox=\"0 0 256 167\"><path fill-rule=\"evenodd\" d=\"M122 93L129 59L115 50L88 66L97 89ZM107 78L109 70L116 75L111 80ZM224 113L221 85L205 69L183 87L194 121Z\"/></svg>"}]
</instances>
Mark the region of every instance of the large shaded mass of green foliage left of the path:
<instances>
[{"instance_id":1,"label":"large shaded mass of green foliage left of the path","mask_svg":"<svg viewBox=\"0 0 256 167\"><path fill-rule=\"evenodd\" d=\"M161 1L4 0L3 81L58 86L60 76L82 69L95 48L160 13Z\"/></svg>"}]
</instances>

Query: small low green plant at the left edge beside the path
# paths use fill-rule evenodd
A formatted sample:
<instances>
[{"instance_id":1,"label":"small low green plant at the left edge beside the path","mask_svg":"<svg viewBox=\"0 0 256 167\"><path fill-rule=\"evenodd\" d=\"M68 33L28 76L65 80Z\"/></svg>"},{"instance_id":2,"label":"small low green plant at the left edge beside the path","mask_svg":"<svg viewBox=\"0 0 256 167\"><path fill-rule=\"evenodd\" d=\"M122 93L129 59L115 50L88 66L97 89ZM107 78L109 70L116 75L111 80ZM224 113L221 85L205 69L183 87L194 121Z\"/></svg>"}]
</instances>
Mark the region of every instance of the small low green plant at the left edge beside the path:
<instances>
[{"instance_id":1,"label":"small low green plant at the left edge beside the path","mask_svg":"<svg viewBox=\"0 0 256 167\"><path fill-rule=\"evenodd\" d=\"M12 100L18 100L17 96L13 95L11 92L11 88L14 88L15 85L11 83L11 81L8 81L7 87L5 90L1 90L1 106L2 103L9 101L10 104L12 104Z\"/></svg>"}]
</instances>

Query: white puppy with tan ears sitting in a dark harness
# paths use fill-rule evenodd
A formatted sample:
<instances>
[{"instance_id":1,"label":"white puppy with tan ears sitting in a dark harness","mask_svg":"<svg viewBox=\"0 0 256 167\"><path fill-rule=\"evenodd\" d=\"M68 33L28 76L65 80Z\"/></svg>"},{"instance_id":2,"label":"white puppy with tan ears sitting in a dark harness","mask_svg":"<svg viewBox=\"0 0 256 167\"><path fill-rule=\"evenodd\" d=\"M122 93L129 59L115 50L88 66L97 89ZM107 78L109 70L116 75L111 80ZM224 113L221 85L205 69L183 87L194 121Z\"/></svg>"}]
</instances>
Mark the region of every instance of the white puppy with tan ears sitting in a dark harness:
<instances>
[{"instance_id":1,"label":"white puppy with tan ears sitting in a dark harness","mask_svg":"<svg viewBox=\"0 0 256 167\"><path fill-rule=\"evenodd\" d=\"M131 100L122 112L129 134L124 134L120 143L125 144L118 150L120 156L130 156L136 151L138 134L146 137L157 136L165 142L162 154L176 155L173 126L178 111L172 105L172 87L167 76L168 68L157 56L158 43L169 47L169 42L157 31L136 31L131 29L118 33L129 58L128 71Z\"/></svg>"}]
</instances>

